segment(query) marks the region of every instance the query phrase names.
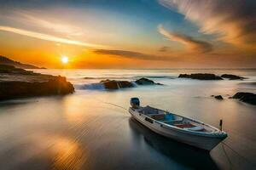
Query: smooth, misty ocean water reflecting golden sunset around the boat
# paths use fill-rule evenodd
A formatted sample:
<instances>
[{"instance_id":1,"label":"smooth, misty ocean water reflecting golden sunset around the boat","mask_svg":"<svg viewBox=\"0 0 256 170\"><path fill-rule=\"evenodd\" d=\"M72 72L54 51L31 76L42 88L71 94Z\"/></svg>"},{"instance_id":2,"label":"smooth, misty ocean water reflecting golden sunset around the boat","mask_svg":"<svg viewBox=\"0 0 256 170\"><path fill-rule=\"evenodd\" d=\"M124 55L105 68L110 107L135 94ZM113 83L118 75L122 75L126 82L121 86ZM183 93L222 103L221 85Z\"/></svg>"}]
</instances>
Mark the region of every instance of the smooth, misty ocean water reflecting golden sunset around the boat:
<instances>
[{"instance_id":1,"label":"smooth, misty ocean water reflecting golden sunset around the boat","mask_svg":"<svg viewBox=\"0 0 256 170\"><path fill-rule=\"evenodd\" d=\"M229 99L256 93L255 69L34 71L65 76L76 92L0 103L0 169L255 169L256 106ZM247 79L177 78L181 73ZM107 90L98 83L141 77L164 86ZM215 127L222 119L229 136L210 153L166 139L131 118L131 97Z\"/></svg>"}]
</instances>

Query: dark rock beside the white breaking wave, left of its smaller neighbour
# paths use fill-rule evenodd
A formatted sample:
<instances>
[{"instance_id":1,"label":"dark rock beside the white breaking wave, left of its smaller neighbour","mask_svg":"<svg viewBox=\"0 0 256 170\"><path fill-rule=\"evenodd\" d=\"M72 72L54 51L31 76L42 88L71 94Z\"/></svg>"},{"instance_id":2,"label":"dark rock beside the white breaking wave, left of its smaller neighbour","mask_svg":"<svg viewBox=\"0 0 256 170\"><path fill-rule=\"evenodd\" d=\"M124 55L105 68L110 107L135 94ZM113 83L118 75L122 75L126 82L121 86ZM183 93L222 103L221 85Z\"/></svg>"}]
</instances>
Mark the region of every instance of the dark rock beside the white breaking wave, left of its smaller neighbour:
<instances>
[{"instance_id":1,"label":"dark rock beside the white breaking wave, left of its smaller neighbour","mask_svg":"<svg viewBox=\"0 0 256 170\"><path fill-rule=\"evenodd\" d=\"M128 81L103 80L101 83L106 89L133 88L133 84Z\"/></svg>"}]
</instances>

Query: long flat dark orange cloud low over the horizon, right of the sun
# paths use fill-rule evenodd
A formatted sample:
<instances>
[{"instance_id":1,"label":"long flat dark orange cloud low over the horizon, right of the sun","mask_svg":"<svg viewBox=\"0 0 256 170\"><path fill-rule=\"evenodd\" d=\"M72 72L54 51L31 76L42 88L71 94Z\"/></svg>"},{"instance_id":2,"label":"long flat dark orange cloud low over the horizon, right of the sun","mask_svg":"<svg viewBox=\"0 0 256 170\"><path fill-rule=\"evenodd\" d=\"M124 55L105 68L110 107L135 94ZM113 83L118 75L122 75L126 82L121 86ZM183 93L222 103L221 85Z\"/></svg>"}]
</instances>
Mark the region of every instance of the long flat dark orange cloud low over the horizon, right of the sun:
<instances>
[{"instance_id":1,"label":"long flat dark orange cloud low over the horizon, right of the sun","mask_svg":"<svg viewBox=\"0 0 256 170\"><path fill-rule=\"evenodd\" d=\"M96 54L108 54L130 59L144 59L144 60L177 60L177 57L170 56L156 56L152 54L143 54L134 51L125 51L117 49L96 49L94 50Z\"/></svg>"}]
</instances>

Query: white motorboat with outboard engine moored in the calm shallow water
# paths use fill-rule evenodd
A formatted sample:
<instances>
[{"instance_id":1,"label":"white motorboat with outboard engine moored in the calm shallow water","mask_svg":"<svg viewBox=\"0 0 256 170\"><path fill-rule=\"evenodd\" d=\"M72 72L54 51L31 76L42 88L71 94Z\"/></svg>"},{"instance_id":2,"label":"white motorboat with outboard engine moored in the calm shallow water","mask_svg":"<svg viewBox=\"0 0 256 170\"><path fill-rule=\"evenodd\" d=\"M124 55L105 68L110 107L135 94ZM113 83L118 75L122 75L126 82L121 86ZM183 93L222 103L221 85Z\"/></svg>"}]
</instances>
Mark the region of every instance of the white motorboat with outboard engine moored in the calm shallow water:
<instances>
[{"instance_id":1,"label":"white motorboat with outboard engine moored in the calm shallow water","mask_svg":"<svg viewBox=\"0 0 256 170\"><path fill-rule=\"evenodd\" d=\"M194 119L162 111L150 106L140 106L137 98L131 98L129 112L138 122L154 133L189 144L203 150L212 150L227 133Z\"/></svg>"}]
</instances>

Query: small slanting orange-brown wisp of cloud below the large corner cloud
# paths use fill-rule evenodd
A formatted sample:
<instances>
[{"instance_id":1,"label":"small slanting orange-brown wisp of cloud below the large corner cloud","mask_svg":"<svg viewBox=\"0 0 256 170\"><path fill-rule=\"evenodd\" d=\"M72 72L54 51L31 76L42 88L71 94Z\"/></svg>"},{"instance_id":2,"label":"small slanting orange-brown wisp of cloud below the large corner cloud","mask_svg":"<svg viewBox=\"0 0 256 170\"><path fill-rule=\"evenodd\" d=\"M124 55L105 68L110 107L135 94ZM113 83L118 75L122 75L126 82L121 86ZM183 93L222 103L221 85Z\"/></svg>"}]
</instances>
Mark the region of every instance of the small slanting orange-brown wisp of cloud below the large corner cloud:
<instances>
[{"instance_id":1,"label":"small slanting orange-brown wisp of cloud below the large corner cloud","mask_svg":"<svg viewBox=\"0 0 256 170\"><path fill-rule=\"evenodd\" d=\"M158 26L158 31L160 32L160 34L167 37L171 41L181 42L188 48L194 50L195 52L207 53L207 52L212 51L212 44L209 42L197 40L193 37L189 37L189 36L181 34L181 33L167 31L161 25Z\"/></svg>"}]
</instances>

